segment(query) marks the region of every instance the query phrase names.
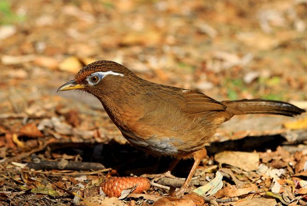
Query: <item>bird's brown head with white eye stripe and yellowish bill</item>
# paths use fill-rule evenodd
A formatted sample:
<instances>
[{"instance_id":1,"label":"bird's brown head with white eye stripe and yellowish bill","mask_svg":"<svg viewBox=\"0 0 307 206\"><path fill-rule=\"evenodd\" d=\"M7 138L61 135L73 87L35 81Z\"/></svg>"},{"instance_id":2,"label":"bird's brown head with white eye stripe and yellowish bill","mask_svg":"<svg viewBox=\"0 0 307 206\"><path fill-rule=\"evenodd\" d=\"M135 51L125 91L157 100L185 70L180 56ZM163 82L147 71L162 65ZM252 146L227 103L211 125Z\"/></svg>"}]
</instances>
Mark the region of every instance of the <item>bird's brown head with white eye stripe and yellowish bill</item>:
<instances>
[{"instance_id":1,"label":"bird's brown head with white eye stripe and yellowish bill","mask_svg":"<svg viewBox=\"0 0 307 206\"><path fill-rule=\"evenodd\" d=\"M120 90L124 79L135 74L124 66L108 60L95 61L83 67L75 79L62 85L58 91L82 90L101 97Z\"/></svg>"}]
</instances>

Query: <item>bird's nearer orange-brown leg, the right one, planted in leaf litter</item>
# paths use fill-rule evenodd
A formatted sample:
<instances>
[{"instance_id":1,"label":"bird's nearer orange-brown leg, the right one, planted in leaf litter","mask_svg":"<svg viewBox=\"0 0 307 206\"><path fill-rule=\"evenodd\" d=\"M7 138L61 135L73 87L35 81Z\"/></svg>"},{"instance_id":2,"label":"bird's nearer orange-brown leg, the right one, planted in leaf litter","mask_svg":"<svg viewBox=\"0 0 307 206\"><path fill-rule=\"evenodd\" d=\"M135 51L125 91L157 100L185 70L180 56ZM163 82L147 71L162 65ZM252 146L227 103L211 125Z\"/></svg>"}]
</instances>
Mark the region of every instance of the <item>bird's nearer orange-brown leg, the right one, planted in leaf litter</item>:
<instances>
[{"instance_id":1,"label":"bird's nearer orange-brown leg, the right one, planted in leaf litter","mask_svg":"<svg viewBox=\"0 0 307 206\"><path fill-rule=\"evenodd\" d=\"M183 196L186 189L189 187L189 184L192 180L192 177L193 177L193 175L196 171L196 168L199 166L201 160L207 156L207 150L206 149L199 150L199 151L193 152L192 155L193 155L193 159L194 159L193 166L190 170L188 177L186 178L185 182L183 183L182 187L178 191L176 191L175 195L177 197Z\"/></svg>"}]
</instances>

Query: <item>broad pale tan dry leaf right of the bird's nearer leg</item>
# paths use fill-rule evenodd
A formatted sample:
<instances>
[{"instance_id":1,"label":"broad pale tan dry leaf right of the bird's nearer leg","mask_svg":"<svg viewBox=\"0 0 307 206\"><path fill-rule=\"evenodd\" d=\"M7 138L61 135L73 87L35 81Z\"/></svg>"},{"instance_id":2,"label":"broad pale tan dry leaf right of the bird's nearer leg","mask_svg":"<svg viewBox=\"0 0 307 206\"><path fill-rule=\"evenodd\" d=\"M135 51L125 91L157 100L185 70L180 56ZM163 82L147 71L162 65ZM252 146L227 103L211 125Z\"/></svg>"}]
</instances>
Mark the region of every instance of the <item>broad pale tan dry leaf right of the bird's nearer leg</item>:
<instances>
[{"instance_id":1,"label":"broad pale tan dry leaf right of the bird's nearer leg","mask_svg":"<svg viewBox=\"0 0 307 206\"><path fill-rule=\"evenodd\" d=\"M215 154L214 159L220 164L229 164L247 172L257 170L259 166L258 153L224 151Z\"/></svg>"}]
</instances>

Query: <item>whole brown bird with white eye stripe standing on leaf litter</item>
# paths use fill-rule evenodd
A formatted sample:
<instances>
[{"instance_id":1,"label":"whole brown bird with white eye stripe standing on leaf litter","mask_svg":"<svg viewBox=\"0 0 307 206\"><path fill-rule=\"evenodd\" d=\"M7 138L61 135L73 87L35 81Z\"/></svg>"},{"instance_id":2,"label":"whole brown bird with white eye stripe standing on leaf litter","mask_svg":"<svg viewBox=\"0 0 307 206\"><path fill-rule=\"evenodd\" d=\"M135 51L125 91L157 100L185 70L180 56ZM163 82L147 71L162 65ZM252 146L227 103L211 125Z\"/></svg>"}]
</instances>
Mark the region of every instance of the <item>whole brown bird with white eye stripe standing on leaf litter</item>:
<instances>
[{"instance_id":1,"label":"whole brown bird with white eye stripe standing on leaf litter","mask_svg":"<svg viewBox=\"0 0 307 206\"><path fill-rule=\"evenodd\" d=\"M234 115L296 116L305 110L282 101L216 101L195 91L151 83L114 61L85 66L57 91L82 90L96 96L131 145L155 156L193 158L192 169L177 195L183 195L216 129Z\"/></svg>"}]
</instances>

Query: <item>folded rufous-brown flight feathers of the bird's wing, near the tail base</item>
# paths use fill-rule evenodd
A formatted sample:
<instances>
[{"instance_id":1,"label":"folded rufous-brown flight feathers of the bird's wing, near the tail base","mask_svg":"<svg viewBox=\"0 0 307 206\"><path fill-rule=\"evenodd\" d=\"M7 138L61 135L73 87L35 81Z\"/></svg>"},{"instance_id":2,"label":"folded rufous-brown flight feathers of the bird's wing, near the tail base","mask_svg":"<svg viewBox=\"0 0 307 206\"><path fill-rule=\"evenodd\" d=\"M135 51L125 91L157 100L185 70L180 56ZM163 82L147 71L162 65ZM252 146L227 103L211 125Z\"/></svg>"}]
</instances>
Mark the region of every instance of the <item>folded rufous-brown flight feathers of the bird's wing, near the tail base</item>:
<instances>
[{"instance_id":1,"label":"folded rufous-brown flight feathers of the bird's wing, near the tail base","mask_svg":"<svg viewBox=\"0 0 307 206\"><path fill-rule=\"evenodd\" d=\"M226 106L220 101L216 101L198 91L183 90L182 96L186 102L182 110L191 117L199 117L226 110Z\"/></svg>"}]
</instances>

